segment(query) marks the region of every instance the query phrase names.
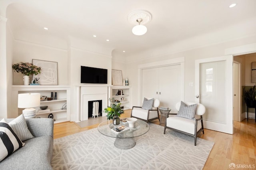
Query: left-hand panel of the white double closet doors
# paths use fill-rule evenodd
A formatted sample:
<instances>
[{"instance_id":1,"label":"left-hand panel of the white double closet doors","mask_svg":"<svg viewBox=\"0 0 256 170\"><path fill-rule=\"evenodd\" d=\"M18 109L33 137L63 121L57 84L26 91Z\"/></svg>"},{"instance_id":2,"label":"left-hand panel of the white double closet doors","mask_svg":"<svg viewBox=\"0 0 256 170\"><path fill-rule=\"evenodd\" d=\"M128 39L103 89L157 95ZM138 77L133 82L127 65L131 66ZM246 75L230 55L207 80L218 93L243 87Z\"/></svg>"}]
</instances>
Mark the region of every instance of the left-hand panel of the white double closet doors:
<instances>
[{"instance_id":1,"label":"left-hand panel of the white double closet doors","mask_svg":"<svg viewBox=\"0 0 256 170\"><path fill-rule=\"evenodd\" d=\"M142 101L144 97L158 99L158 68L142 69Z\"/></svg>"}]
</instances>

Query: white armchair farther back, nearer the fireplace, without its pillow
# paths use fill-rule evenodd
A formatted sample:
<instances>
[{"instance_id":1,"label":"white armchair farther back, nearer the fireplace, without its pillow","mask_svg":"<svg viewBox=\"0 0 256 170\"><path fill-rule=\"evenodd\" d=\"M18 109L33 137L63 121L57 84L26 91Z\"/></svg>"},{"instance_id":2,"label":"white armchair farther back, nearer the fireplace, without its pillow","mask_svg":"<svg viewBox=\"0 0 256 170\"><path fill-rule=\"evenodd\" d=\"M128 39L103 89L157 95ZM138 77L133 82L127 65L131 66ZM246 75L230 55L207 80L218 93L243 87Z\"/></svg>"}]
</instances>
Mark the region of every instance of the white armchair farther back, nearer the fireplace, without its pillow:
<instances>
[{"instance_id":1,"label":"white armchair farther back, nearer the fireplace, without its pillow","mask_svg":"<svg viewBox=\"0 0 256 170\"><path fill-rule=\"evenodd\" d=\"M152 98L146 98L146 99L152 99ZM158 119L160 121L160 117L158 113L159 105L160 105L160 101L158 99L154 99L152 109L142 109L142 107L133 106L131 117L135 117L137 119L145 121L146 123L148 123L149 121L153 121L155 119Z\"/></svg>"}]
</instances>

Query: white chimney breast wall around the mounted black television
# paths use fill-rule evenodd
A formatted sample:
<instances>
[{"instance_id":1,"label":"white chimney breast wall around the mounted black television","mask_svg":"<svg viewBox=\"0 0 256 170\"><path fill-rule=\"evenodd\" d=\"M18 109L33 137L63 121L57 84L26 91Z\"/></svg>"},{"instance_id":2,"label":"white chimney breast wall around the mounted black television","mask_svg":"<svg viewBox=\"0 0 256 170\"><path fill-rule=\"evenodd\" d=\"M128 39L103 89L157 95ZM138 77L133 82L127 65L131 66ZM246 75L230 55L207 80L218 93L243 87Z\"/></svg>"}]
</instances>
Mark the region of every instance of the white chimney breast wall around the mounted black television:
<instances>
[{"instance_id":1,"label":"white chimney breast wall around the mounted black television","mask_svg":"<svg viewBox=\"0 0 256 170\"><path fill-rule=\"evenodd\" d=\"M90 46L93 45L93 48ZM99 49L100 52L93 51ZM80 85L81 65L88 67L97 67L108 69L108 85L111 85L111 51L95 44L89 44L86 41L70 38L70 85L71 85L71 121L79 120L79 111L77 110L76 85ZM106 54L103 54L106 53ZM86 83L82 83L86 84Z\"/></svg>"}]
</instances>

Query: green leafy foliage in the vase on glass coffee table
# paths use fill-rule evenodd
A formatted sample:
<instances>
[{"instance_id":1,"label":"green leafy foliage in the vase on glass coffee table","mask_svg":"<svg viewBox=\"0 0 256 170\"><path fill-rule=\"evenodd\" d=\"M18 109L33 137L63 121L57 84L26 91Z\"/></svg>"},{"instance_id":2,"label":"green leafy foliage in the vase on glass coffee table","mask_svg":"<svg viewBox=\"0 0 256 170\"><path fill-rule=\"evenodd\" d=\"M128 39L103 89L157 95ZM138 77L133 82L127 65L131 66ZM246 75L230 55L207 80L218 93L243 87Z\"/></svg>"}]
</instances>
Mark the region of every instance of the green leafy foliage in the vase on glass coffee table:
<instances>
[{"instance_id":1,"label":"green leafy foliage in the vase on glass coffee table","mask_svg":"<svg viewBox=\"0 0 256 170\"><path fill-rule=\"evenodd\" d=\"M106 117L108 118L108 120L113 119L116 116L120 117L120 115L124 113L124 111L120 107L121 103L116 103L114 98L109 99L109 101L110 106L104 109L104 112L107 113Z\"/></svg>"}]
</instances>

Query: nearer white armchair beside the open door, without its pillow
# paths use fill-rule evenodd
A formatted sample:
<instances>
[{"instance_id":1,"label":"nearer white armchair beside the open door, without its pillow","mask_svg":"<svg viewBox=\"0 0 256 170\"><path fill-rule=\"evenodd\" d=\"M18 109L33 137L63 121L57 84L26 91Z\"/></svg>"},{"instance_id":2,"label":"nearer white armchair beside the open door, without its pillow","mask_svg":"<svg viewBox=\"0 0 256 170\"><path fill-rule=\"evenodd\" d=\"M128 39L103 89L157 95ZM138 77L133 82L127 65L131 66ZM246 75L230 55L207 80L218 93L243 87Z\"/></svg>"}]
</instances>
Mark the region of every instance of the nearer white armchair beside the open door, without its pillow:
<instances>
[{"instance_id":1,"label":"nearer white armchair beside the open door, without its pillow","mask_svg":"<svg viewBox=\"0 0 256 170\"><path fill-rule=\"evenodd\" d=\"M187 102L186 105L194 105L196 103ZM176 104L176 109L180 110L181 103ZM196 113L195 113L195 120L187 119L184 117L177 117L172 116L169 117L169 115L166 116L166 122L164 126L164 134L166 128L176 130L178 132L182 132L184 134L188 134L190 136L194 137L194 145L196 146L196 137L200 132L203 132L204 134L204 125L203 125L203 118L202 115L205 113L205 107L204 105L197 103L196 106Z\"/></svg>"}]
</instances>

